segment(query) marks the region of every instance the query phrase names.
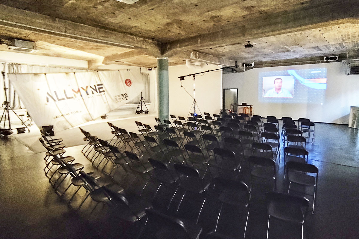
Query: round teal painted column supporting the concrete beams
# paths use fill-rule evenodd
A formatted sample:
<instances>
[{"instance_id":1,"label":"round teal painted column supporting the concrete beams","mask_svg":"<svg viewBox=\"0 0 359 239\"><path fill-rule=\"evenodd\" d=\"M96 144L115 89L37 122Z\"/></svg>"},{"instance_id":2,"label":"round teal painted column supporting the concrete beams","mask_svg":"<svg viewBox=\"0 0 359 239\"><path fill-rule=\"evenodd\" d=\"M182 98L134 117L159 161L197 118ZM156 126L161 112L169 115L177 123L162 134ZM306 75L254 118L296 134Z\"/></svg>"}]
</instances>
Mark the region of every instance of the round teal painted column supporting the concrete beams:
<instances>
[{"instance_id":1,"label":"round teal painted column supporting the concrete beams","mask_svg":"<svg viewBox=\"0 0 359 239\"><path fill-rule=\"evenodd\" d=\"M158 118L169 119L168 59L157 59Z\"/></svg>"}]
</instances>

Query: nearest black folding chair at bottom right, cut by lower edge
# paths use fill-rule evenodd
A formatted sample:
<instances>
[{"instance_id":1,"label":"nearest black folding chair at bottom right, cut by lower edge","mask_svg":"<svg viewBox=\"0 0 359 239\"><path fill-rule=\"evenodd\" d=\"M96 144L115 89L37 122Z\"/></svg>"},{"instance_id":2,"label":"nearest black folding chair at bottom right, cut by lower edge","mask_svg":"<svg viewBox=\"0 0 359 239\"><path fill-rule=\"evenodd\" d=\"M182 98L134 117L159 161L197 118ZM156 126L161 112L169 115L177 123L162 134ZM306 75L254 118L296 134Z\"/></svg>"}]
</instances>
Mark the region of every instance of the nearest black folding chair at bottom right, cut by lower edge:
<instances>
[{"instance_id":1,"label":"nearest black folding chair at bottom right, cut by lower edge","mask_svg":"<svg viewBox=\"0 0 359 239\"><path fill-rule=\"evenodd\" d=\"M266 194L266 206L268 214L267 239L271 216L281 221L300 224L302 226L303 239L303 224L309 208L308 199L280 192L268 192Z\"/></svg>"}]
</instances>

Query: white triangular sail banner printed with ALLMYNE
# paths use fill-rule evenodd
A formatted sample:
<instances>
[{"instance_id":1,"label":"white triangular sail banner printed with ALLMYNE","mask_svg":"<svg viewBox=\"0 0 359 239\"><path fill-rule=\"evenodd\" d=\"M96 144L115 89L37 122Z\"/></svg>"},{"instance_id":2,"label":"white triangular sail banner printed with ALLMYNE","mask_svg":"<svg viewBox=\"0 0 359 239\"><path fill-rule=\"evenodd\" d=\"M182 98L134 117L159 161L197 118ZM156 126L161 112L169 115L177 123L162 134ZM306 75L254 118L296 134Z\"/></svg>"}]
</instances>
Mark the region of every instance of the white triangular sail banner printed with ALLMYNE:
<instances>
[{"instance_id":1,"label":"white triangular sail banner printed with ALLMYNE","mask_svg":"<svg viewBox=\"0 0 359 239\"><path fill-rule=\"evenodd\" d=\"M72 128L115 110L144 88L140 70L13 73L11 84L37 126Z\"/></svg>"}]
</instances>

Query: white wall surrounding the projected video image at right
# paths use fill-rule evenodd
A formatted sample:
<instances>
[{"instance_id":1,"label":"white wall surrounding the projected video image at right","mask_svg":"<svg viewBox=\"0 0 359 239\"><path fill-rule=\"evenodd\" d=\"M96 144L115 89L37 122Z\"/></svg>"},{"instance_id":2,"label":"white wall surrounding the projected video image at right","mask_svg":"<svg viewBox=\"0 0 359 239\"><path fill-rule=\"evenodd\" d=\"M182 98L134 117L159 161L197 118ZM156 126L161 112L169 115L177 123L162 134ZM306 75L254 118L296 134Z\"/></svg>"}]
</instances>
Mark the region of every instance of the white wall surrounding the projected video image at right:
<instances>
[{"instance_id":1,"label":"white wall surrounding the projected video image at right","mask_svg":"<svg viewBox=\"0 0 359 239\"><path fill-rule=\"evenodd\" d=\"M258 101L258 73L289 69L327 68L327 89L323 105L266 103ZM359 75L345 75L342 62L301 66L254 68L243 73L223 75L223 88L238 88L238 102L253 104L253 114L277 118L309 118L316 122L348 124L350 106L359 106Z\"/></svg>"}]
</instances>

